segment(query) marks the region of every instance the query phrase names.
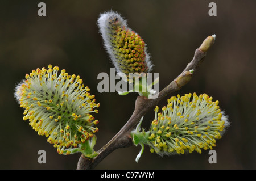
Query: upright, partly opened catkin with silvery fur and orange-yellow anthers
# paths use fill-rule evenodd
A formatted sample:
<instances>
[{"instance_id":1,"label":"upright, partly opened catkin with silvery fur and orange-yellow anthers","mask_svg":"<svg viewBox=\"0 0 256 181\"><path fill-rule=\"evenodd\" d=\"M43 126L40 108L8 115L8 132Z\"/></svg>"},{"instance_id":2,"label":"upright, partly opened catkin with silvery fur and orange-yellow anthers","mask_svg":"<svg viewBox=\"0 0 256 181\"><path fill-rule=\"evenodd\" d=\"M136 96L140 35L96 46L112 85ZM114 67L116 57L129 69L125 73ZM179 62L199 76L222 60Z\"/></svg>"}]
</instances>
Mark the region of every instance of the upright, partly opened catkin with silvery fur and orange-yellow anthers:
<instances>
[{"instance_id":1,"label":"upright, partly opened catkin with silvery fur and orange-yellow anthers","mask_svg":"<svg viewBox=\"0 0 256 181\"><path fill-rule=\"evenodd\" d=\"M117 73L147 73L152 64L141 36L116 12L100 15L98 27Z\"/></svg>"}]
</instances>

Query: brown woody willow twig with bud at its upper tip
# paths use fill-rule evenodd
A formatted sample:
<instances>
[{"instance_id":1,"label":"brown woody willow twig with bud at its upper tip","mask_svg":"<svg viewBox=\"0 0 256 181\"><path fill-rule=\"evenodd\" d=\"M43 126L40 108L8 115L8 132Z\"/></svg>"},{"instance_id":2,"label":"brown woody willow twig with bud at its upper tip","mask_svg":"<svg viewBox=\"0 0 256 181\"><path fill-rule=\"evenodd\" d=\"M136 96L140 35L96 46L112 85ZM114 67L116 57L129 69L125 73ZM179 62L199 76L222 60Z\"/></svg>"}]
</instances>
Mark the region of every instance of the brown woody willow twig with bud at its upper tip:
<instances>
[{"instance_id":1,"label":"brown woody willow twig with bud at its upper tip","mask_svg":"<svg viewBox=\"0 0 256 181\"><path fill-rule=\"evenodd\" d=\"M139 120L152 108L154 108L160 100L162 100L167 95L172 92L178 91L186 85L192 78L193 73L199 68L201 62L204 61L207 50L214 43L215 35L208 36L207 39L203 41L200 48L196 49L194 57L187 67L182 71L182 73L177 76L168 86L166 86L162 91L159 92L158 97L155 99L148 99L144 96L138 96L135 102L134 112L130 119L123 126L123 128L100 150L98 150L97 157L93 159L85 158L81 155L79 162L77 163L77 169L88 170L94 169L110 153L119 148L127 148L133 145L130 132L139 123ZM193 73L189 70L193 70Z\"/></svg>"}]
</instances>

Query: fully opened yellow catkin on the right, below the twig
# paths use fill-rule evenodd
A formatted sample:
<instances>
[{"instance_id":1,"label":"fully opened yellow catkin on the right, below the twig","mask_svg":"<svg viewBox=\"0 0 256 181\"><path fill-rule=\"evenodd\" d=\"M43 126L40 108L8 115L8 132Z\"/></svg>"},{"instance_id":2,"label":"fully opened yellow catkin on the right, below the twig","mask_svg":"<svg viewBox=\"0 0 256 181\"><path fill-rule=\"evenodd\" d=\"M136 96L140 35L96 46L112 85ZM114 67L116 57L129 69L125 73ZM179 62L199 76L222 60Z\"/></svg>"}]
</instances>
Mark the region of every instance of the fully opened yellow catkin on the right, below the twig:
<instances>
[{"instance_id":1,"label":"fully opened yellow catkin on the right, below the twig","mask_svg":"<svg viewBox=\"0 0 256 181\"><path fill-rule=\"evenodd\" d=\"M207 94L172 96L162 112L156 106L149 131L139 132L137 129L131 135L135 144L147 144L151 153L159 155L201 153L201 149L213 149L216 140L229 126L228 116L220 110L218 103Z\"/></svg>"}]
</instances>

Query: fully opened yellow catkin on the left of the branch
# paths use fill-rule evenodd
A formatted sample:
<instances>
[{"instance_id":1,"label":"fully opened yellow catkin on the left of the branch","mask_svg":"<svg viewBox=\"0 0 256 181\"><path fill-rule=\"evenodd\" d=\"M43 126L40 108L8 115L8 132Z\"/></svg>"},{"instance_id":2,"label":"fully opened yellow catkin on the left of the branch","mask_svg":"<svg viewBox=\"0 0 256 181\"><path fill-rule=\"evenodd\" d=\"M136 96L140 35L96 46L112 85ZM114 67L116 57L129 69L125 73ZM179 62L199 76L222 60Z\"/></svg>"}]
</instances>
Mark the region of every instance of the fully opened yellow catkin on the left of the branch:
<instances>
[{"instance_id":1,"label":"fully opened yellow catkin on the left of the branch","mask_svg":"<svg viewBox=\"0 0 256 181\"><path fill-rule=\"evenodd\" d=\"M70 154L71 148L85 143L98 131L91 113L97 113L95 103L80 76L69 75L65 69L52 65L32 70L16 86L15 97L24 108L23 120L28 120L39 135L48 137L59 154ZM64 151L64 149L66 149Z\"/></svg>"}]
</instances>

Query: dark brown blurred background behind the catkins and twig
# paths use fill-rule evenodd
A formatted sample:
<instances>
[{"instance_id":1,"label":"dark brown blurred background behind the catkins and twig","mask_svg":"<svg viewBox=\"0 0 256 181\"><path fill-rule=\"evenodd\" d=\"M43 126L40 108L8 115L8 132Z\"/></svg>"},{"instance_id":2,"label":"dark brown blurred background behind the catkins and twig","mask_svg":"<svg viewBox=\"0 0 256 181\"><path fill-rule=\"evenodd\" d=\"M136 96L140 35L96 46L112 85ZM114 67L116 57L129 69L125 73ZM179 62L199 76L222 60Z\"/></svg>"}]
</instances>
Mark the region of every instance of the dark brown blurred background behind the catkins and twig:
<instances>
[{"instance_id":1,"label":"dark brown blurred background behind the catkins and twig","mask_svg":"<svg viewBox=\"0 0 256 181\"><path fill-rule=\"evenodd\" d=\"M96 169L255 169L255 60L256 1L214 1L217 16L209 16L213 1L43 1L46 16L38 16L41 1L0 2L0 169L76 169L80 154L59 155L44 136L23 121L23 110L14 99L15 85L32 69L48 64L80 75L101 103L96 150L104 146L129 119L135 94L98 93L98 73L110 73L108 54L98 33L97 18L118 11L129 27L147 43L159 73L159 89L170 83L192 60L205 37L216 42L191 82L175 94L207 93L220 101L231 127L217 141L217 163L202 154L159 157L148 147L115 150ZM170 95L171 96L171 95ZM167 104L167 98L159 107ZM153 119L145 116L143 127ZM46 164L38 151L46 150Z\"/></svg>"}]
</instances>

